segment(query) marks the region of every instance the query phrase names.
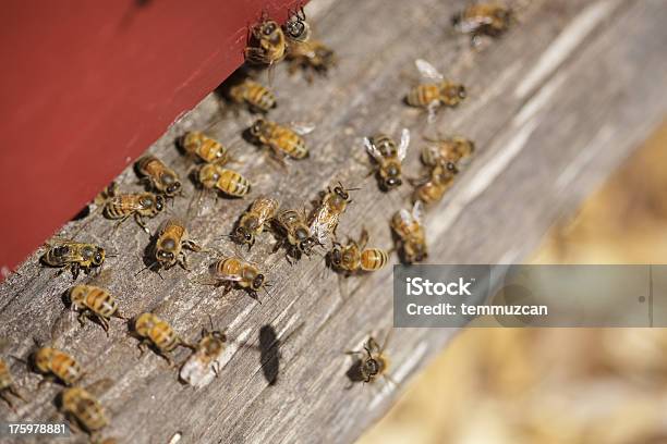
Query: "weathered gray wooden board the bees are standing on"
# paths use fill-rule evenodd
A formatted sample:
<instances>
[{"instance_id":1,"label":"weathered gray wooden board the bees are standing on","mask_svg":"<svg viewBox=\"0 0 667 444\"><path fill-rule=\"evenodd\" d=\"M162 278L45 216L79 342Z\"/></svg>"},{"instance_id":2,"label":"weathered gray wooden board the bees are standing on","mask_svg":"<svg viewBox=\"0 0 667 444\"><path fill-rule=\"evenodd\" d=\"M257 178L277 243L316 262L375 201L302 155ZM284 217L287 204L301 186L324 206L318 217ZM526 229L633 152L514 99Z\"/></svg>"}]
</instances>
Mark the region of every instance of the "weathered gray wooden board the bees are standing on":
<instances>
[{"instance_id":1,"label":"weathered gray wooden board the bees are standing on","mask_svg":"<svg viewBox=\"0 0 667 444\"><path fill-rule=\"evenodd\" d=\"M287 207L300 207L335 181L363 189L339 227L356 235L363 224L372 244L391 246L388 221L408 205L409 187L380 194L366 177L367 157L360 137L407 126L414 144L407 174L421 172L420 135L438 128L473 138L478 153L442 202L427 213L432 263L506 263L520 261L554 221L574 208L664 118L667 111L667 9L663 0L533 1L520 9L520 23L505 37L474 51L464 36L449 29L463 1L314 0L320 37L341 59L327 79L306 86L302 78L276 70L279 122L308 121L317 130L307 141L311 158L281 171L241 138L252 119L222 116L215 97L177 121L149 148L183 176L189 161L173 140L187 130L206 128L231 145L243 161L239 170L254 183L253 196L276 193ZM425 115L401 102L425 58L469 87L469 99L438 114L428 128ZM138 189L130 168L118 182ZM185 193L194 196L192 184ZM190 199L177 199L171 212L183 215ZM208 247L234 252L223 239L247 200L213 199L190 220L192 237ZM156 229L159 220L148 225ZM229 361L219 378L194 391L177 381L155 354L141 359L136 341L120 320L107 338L99 325L80 328L61 300L70 276L31 257L0 286L0 336L3 355L25 357L32 338L53 340L76 356L86 382L110 378L101 400L111 418L105 436L126 443L167 443L182 433L184 443L351 442L391 406L401 388L454 331L401 329L388 354L399 385L381 383L345 390L354 349L369 331L383 337L391 326L391 268L340 283L319 258L290 267L282 254L270 255L272 237L263 236L248 259L266 270L274 286L258 305L242 293L216 297L193 282L206 273L211 255L192 254L193 271L173 269L165 280L145 272L141 255L148 237L133 223L112 233L113 223L89 218L70 223L62 235L81 230L77 239L97 240L119 257L108 260L109 288L122 311L151 310L183 337L198 338L210 314L232 338ZM392 261L396 258L392 257ZM278 332L279 371L269 384L263 370L259 332ZM58 334L52 337L52 331ZM187 351L180 350L178 359ZM269 351L270 354L270 351ZM12 365L31 398L14 415L0 406L0 418L54 418L56 385L37 391L39 378ZM76 435L71 442L85 442ZM23 441L22 441L23 442ZM68 442L66 440L63 442Z\"/></svg>"}]
</instances>

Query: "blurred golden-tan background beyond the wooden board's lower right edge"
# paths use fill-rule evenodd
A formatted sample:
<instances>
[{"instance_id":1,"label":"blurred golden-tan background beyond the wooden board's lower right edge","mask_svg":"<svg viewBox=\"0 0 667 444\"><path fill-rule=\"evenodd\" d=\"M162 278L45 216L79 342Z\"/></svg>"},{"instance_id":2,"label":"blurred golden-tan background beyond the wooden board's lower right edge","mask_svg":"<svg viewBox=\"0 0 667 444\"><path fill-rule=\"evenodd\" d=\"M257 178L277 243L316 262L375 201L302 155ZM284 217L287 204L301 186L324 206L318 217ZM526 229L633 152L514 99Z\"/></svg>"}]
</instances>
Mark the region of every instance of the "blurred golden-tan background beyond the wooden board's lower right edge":
<instances>
[{"instance_id":1,"label":"blurred golden-tan background beyond the wooden board's lower right edge","mask_svg":"<svg viewBox=\"0 0 667 444\"><path fill-rule=\"evenodd\" d=\"M667 122L535 263L667 263ZM469 329L357 444L667 443L667 330Z\"/></svg>"}]
</instances>

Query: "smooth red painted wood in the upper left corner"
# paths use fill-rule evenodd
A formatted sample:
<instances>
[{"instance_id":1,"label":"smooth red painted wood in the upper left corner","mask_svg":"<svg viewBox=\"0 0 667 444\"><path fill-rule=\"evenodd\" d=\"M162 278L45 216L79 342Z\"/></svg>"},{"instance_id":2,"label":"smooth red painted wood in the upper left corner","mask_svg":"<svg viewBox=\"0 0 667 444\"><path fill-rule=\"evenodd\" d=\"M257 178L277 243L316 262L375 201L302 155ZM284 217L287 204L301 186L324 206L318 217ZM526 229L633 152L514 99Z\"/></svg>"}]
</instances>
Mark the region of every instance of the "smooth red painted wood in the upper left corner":
<instances>
[{"instance_id":1,"label":"smooth red painted wood in the upper left corner","mask_svg":"<svg viewBox=\"0 0 667 444\"><path fill-rule=\"evenodd\" d=\"M0 267L21 262L237 69L263 10L284 21L296 2L4 1Z\"/></svg>"}]
</instances>

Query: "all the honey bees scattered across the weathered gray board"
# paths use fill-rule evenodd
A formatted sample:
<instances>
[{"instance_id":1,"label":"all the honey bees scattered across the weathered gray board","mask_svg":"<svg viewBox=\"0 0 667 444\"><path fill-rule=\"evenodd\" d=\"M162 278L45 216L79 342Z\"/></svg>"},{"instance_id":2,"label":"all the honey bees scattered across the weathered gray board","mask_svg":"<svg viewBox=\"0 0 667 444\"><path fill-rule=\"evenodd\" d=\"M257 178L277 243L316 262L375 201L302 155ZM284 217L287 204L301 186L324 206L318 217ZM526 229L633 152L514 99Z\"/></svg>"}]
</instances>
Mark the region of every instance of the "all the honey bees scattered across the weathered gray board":
<instances>
[{"instance_id":1,"label":"all the honey bees scattered across the weathered gray board","mask_svg":"<svg viewBox=\"0 0 667 444\"><path fill-rule=\"evenodd\" d=\"M473 37L496 37L507 30L512 20L513 13L507 8L478 3L458 14L454 24L457 29ZM337 61L335 52L312 38L312 35L313 30L306 22L303 9L290 12L282 26L264 15L259 23L248 29L245 58L250 63L269 67L287 58L290 72L303 70L307 81L312 82L313 73L326 74ZM463 85L445 79L436 67L423 59L417 59L415 65L426 82L414 85L404 101L411 107L425 110L429 122L435 119L438 109L454 108L465 99L466 90ZM246 106L253 113L267 114L277 107L274 92L251 77L229 88L229 97L234 103ZM286 164L287 159L305 160L310 157L311 151L303 136L313 130L314 125L311 124L279 124L262 115L251 124L246 135L252 143L266 148L270 158ZM424 140L426 146L420 151L420 159L426 172L422 177L405 180L404 161L411 141L409 128L401 130L398 141L391 135L383 133L363 138L364 148L372 160L371 174L375 174L381 190L397 189L405 181L414 186L412 208L400 209L389 221L396 249L405 264L427 259L424 207L442 199L459 171L475 152L475 144L460 135L424 136ZM193 174L190 178L203 190L219 192L234 198L252 196L253 186L250 180L241 172L227 168L233 160L226 145L201 131L183 134L178 138L177 145L192 161ZM119 193L112 184L100 194L96 203L105 218L117 220L118 224L133 218L150 234L145 219L159 217L167 210L167 202L173 201L169 199L183 197L183 183L177 171L153 155L137 160L134 168L141 183L146 186L144 192ZM263 233L270 232L276 238L274 252L284 248L290 264L303 256L311 257L322 251L320 256L326 257L329 268L342 276L381 270L389 263L390 252L380 247L368 248L371 236L366 229L361 230L356 239L348 238L343 243L338 237L340 221L352 202L351 193L356 189L360 188L348 188L338 182L320 194L311 212L307 212L305 207L282 207L275 197L254 197L226 237L237 245L247 246L250 250L264 237ZM147 267L144 270L154 270L159 274L160 270L167 271L179 266L190 271L185 250L201 254L211 251L193 240L186 225L185 221L173 217L158 225L147 243ZM59 269L58 274L71 271L76 280L81 271L89 274L93 270L99 270L109 257L114 255L109 255L99 245L58 239L52 245L46 245L40 261L46 267ZM259 301L258 292L265 291L268 294L267 288L270 287L263 267L244 259L240 254L219 255L209 271L199 282L223 287L226 294L239 289ZM270 278L268 280L270 281ZM107 336L112 318L126 319L120 313L119 304L112 293L94 282L72 286L66 297L71 309L78 313L82 324L92 319L101 325ZM170 366L174 366L171 354L178 347L193 350L179 371L182 382L195 388L203 387L220 373L228 338L225 331L214 328L213 321L210 330L203 329L196 345L183 340L167 321L153 312L135 316L131 326L133 334L140 340L142 354L149 347ZM278 341L277 334L274 333L271 337L272 341ZM386 344L387 341L380 346L371 336L363 350L350 351L357 358L349 372L352 381L373 382L380 377L390 381ZM109 423L100 402L92 391L78 385L84 371L74 357L52 346L40 346L31 355L31 363L33 369L44 377L41 382L57 381L66 386L59 396L59 406L73 425L96 436ZM272 381L275 380L274 378ZM3 360L0 360L0 397L11 408L13 398L25 400Z\"/></svg>"}]
</instances>

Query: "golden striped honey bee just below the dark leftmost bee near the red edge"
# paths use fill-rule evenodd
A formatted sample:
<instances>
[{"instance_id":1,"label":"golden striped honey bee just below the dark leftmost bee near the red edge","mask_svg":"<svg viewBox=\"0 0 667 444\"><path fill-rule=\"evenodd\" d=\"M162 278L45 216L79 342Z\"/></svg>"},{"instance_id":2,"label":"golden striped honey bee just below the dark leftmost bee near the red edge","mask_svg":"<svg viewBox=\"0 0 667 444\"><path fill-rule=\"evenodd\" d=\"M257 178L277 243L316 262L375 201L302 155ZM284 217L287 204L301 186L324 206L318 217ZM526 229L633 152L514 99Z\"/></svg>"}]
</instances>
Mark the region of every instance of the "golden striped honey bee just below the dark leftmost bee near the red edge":
<instances>
[{"instance_id":1,"label":"golden striped honey bee just below the dark leftmost bee near the red edge","mask_svg":"<svg viewBox=\"0 0 667 444\"><path fill-rule=\"evenodd\" d=\"M109 291L94 285L75 285L69 291L72 308L78 312L78 322L83 325L86 318L95 317L109 336L109 320L122 317L118 303Z\"/></svg>"}]
</instances>

